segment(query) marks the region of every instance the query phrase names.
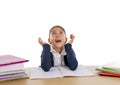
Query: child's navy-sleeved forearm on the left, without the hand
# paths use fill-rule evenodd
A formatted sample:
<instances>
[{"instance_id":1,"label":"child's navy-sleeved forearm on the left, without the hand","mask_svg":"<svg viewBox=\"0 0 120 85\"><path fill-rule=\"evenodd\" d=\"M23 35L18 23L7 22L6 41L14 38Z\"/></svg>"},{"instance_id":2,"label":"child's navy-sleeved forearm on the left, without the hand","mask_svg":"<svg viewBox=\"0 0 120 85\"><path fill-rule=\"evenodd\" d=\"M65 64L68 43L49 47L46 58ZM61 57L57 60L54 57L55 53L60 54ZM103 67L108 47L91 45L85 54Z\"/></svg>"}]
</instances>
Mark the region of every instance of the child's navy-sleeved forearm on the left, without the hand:
<instances>
[{"instance_id":1,"label":"child's navy-sleeved forearm on the left, without the hand","mask_svg":"<svg viewBox=\"0 0 120 85\"><path fill-rule=\"evenodd\" d=\"M49 71L51 67L52 67L52 59L50 53L50 45L44 44L43 51L41 54L41 68L44 71Z\"/></svg>"}]
</instances>

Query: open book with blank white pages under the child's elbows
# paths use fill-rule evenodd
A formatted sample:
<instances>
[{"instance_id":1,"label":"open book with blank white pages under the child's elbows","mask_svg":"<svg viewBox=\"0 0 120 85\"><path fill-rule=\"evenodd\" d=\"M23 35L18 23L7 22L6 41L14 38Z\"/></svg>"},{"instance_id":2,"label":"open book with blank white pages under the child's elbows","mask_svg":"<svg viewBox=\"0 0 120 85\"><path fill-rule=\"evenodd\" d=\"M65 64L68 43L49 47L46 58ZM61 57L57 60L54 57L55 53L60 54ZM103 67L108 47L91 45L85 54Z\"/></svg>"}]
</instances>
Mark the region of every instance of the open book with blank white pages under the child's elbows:
<instances>
[{"instance_id":1,"label":"open book with blank white pages under the child's elbows","mask_svg":"<svg viewBox=\"0 0 120 85\"><path fill-rule=\"evenodd\" d=\"M79 65L75 71L71 71L67 66L52 67L50 71L45 72L41 68L32 68L30 79L38 78L57 78L64 76L93 76L86 67Z\"/></svg>"}]
</instances>

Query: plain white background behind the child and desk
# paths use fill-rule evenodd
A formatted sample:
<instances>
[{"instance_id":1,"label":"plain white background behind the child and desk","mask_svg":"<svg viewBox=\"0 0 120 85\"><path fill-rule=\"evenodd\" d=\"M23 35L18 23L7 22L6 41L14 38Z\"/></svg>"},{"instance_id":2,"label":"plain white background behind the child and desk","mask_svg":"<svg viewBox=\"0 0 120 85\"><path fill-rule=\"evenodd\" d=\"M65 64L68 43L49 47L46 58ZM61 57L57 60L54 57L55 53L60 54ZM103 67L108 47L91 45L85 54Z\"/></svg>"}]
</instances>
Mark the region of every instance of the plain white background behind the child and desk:
<instances>
[{"instance_id":1,"label":"plain white background behind the child and desk","mask_svg":"<svg viewBox=\"0 0 120 85\"><path fill-rule=\"evenodd\" d=\"M61 25L79 64L102 65L120 61L119 0L0 0L0 55L11 54L39 66L49 29Z\"/></svg>"}]
</instances>

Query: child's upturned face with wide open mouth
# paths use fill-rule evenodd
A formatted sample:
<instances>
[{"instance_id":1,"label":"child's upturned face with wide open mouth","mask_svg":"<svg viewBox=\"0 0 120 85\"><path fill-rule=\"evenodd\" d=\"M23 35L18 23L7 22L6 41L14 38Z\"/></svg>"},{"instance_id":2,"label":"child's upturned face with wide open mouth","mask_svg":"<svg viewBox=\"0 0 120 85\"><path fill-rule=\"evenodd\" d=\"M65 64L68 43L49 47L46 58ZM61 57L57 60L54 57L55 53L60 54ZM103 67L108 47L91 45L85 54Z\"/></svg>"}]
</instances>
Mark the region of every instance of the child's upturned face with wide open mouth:
<instances>
[{"instance_id":1,"label":"child's upturned face with wide open mouth","mask_svg":"<svg viewBox=\"0 0 120 85\"><path fill-rule=\"evenodd\" d=\"M53 48L62 48L66 40L67 38L63 29L55 27L51 30L48 41L52 44Z\"/></svg>"}]
</instances>

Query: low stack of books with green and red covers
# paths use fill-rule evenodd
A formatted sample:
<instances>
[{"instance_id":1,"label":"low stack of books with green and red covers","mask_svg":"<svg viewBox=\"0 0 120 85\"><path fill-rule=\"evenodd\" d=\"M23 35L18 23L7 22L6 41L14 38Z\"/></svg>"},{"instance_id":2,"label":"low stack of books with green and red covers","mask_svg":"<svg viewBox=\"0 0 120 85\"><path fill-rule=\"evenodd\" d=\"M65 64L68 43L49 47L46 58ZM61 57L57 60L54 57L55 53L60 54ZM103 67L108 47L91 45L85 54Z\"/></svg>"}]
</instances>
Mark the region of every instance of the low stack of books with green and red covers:
<instances>
[{"instance_id":1,"label":"low stack of books with green and red covers","mask_svg":"<svg viewBox=\"0 0 120 85\"><path fill-rule=\"evenodd\" d=\"M98 71L98 74L102 76L120 77L119 62L106 63L101 67L97 67L96 70Z\"/></svg>"}]
</instances>

